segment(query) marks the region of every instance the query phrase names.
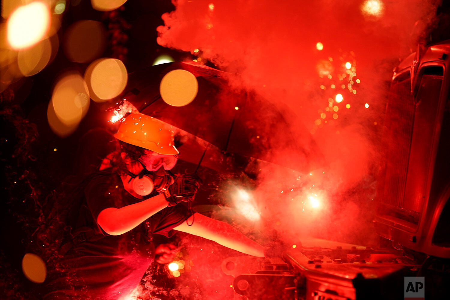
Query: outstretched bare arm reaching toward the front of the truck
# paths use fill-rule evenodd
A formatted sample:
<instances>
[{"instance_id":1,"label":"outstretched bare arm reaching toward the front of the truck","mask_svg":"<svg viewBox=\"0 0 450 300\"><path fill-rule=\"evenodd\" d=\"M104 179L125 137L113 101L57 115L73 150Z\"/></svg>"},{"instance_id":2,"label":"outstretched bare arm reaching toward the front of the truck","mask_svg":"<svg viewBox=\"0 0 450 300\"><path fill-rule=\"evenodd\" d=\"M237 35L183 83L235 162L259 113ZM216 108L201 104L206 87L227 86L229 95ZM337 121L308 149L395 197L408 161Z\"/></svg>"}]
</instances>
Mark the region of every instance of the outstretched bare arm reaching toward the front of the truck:
<instances>
[{"instance_id":1,"label":"outstretched bare arm reaching toward the front of the truck","mask_svg":"<svg viewBox=\"0 0 450 300\"><path fill-rule=\"evenodd\" d=\"M264 247L257 242L252 241L233 226L208 218L207 216L195 213L195 220L192 226L186 224L186 222L178 225L174 229L197 235L199 237L207 238L222 246L234 249L236 251L253 255L264 256ZM189 224L192 223L193 216L188 219Z\"/></svg>"}]
</instances>

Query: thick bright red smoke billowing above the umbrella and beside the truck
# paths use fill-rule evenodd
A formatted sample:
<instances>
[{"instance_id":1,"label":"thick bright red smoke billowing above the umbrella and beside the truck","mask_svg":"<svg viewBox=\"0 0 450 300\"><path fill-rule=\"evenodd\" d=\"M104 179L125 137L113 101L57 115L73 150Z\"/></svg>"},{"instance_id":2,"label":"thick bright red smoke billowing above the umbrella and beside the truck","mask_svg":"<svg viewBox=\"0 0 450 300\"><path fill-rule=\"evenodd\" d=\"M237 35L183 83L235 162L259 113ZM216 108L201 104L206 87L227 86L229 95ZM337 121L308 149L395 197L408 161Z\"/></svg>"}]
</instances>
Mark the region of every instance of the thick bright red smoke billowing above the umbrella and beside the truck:
<instances>
[{"instance_id":1,"label":"thick bright red smoke billowing above the umbrella and beside the truck","mask_svg":"<svg viewBox=\"0 0 450 300\"><path fill-rule=\"evenodd\" d=\"M436 1L173 4L175 11L163 14L165 26L157 28L158 43L238 72L243 82L236 85L288 105L329 162L323 170L311 170L313 175L260 166L253 195L261 211L259 226L278 228L291 242L300 233L369 242L374 175L381 159L377 143L392 68L426 35ZM418 20L425 25L414 27ZM336 102L336 94L342 94L342 102ZM311 204L307 197L319 197L311 191L324 200L321 210L305 213L302 201Z\"/></svg>"}]
</instances>

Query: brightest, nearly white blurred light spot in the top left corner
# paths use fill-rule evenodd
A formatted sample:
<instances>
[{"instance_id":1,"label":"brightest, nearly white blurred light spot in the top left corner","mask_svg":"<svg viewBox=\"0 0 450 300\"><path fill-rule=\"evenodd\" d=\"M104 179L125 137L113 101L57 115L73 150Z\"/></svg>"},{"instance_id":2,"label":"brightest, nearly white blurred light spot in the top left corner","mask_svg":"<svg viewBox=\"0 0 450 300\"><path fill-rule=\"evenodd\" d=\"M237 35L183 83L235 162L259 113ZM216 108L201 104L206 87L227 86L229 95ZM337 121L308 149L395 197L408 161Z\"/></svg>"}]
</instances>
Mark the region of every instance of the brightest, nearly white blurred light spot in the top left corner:
<instances>
[{"instance_id":1,"label":"brightest, nearly white blurred light spot in the top left corner","mask_svg":"<svg viewBox=\"0 0 450 300\"><path fill-rule=\"evenodd\" d=\"M34 1L19 6L8 18L6 38L14 50L25 49L42 40L50 28L47 4Z\"/></svg>"}]
</instances>

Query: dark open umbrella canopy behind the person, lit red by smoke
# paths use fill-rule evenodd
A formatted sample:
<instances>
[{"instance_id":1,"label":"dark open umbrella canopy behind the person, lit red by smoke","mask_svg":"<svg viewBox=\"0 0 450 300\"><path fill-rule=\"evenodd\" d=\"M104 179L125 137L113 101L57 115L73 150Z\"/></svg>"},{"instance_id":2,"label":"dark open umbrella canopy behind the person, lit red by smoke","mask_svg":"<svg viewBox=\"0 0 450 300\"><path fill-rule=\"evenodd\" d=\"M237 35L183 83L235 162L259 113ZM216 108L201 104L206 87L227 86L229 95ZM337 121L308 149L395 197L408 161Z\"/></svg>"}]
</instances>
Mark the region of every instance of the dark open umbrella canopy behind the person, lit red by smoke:
<instances>
[{"instance_id":1,"label":"dark open umbrella canopy behind the person, lit red by smoke","mask_svg":"<svg viewBox=\"0 0 450 300\"><path fill-rule=\"evenodd\" d=\"M167 104L160 94L162 78L178 69L192 73L198 81L195 98L181 107ZM139 112L193 134L222 151L303 173L324 166L321 152L295 114L230 84L238 80L237 74L199 63L165 63L130 73L123 98Z\"/></svg>"}]
</instances>

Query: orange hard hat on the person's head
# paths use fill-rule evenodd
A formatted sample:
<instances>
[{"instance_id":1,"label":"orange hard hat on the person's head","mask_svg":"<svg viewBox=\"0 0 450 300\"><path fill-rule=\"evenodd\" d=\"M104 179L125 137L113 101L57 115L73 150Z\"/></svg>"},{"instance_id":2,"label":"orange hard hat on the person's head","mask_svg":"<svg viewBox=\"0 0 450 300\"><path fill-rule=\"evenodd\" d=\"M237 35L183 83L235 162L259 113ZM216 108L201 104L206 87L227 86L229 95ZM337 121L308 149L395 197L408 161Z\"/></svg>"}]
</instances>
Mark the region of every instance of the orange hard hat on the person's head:
<instances>
[{"instance_id":1,"label":"orange hard hat on the person's head","mask_svg":"<svg viewBox=\"0 0 450 300\"><path fill-rule=\"evenodd\" d=\"M173 130L167 129L165 123L142 113L126 116L114 134L116 139L159 154L179 154L175 148Z\"/></svg>"}]
</instances>

